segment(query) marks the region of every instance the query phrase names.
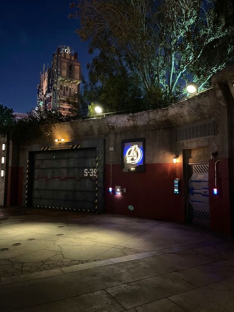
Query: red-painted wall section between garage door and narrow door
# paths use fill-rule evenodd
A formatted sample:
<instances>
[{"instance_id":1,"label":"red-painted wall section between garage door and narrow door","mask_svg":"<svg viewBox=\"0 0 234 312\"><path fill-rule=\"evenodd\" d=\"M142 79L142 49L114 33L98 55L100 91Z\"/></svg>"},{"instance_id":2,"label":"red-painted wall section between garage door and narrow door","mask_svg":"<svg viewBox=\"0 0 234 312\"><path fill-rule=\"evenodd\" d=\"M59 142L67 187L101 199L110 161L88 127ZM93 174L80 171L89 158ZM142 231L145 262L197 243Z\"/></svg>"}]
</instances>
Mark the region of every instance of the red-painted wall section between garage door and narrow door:
<instances>
[{"instance_id":1,"label":"red-painted wall section between garage door and narrow door","mask_svg":"<svg viewBox=\"0 0 234 312\"><path fill-rule=\"evenodd\" d=\"M181 163L152 163L146 164L145 173L122 172L120 165L113 165L112 188L120 185L127 193L115 195L109 193L110 165L105 167L105 200L106 212L134 217L153 218L168 221L185 221L183 185L181 194L175 195L174 179L183 180ZM128 206L134 210L130 211Z\"/></svg>"}]
</instances>

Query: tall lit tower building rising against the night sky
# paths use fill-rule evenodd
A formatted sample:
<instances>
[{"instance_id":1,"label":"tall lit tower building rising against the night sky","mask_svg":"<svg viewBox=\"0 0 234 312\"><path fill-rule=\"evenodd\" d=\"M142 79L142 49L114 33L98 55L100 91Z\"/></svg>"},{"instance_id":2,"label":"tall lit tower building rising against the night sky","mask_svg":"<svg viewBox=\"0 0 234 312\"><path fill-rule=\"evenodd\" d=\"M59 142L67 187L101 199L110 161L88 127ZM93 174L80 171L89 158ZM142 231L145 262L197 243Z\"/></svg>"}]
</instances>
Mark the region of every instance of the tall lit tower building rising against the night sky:
<instances>
[{"instance_id":1,"label":"tall lit tower building rising against the night sky","mask_svg":"<svg viewBox=\"0 0 234 312\"><path fill-rule=\"evenodd\" d=\"M69 98L78 102L80 83L80 63L78 54L62 45L57 48L52 58L52 66L40 73L38 85L37 110L60 111L63 115L70 113Z\"/></svg>"}]
</instances>

